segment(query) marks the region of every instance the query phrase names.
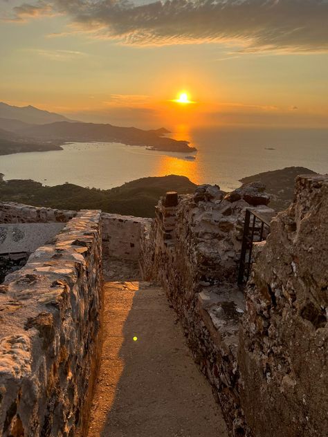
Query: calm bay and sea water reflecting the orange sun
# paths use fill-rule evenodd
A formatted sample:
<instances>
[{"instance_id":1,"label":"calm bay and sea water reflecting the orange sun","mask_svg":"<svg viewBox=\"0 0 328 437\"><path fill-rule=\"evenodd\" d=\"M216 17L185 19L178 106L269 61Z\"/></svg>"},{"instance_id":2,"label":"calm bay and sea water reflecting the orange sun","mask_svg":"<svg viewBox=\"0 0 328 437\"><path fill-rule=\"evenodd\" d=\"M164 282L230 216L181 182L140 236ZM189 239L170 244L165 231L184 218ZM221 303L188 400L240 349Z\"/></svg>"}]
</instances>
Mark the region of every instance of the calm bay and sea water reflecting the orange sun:
<instances>
[{"instance_id":1,"label":"calm bay and sea water reflecting the orange sun","mask_svg":"<svg viewBox=\"0 0 328 437\"><path fill-rule=\"evenodd\" d=\"M238 187L244 176L293 165L328 172L328 130L188 131L180 127L173 136L196 145L196 160L186 160L187 154L117 143L75 143L64 146L64 151L0 156L0 172L5 179L33 179L44 185L67 181L102 189L145 176L179 174L198 184L217 183L225 190Z\"/></svg>"}]
</instances>

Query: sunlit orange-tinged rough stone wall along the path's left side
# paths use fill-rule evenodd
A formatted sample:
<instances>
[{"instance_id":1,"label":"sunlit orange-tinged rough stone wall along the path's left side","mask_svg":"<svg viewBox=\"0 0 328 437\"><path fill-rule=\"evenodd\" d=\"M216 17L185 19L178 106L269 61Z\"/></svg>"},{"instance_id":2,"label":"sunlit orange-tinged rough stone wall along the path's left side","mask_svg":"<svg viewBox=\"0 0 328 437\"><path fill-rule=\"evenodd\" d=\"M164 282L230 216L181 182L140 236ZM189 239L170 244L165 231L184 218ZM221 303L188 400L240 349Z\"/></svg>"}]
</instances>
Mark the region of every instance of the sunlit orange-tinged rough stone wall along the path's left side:
<instances>
[{"instance_id":1,"label":"sunlit orange-tinged rough stone wall along the path's left side","mask_svg":"<svg viewBox=\"0 0 328 437\"><path fill-rule=\"evenodd\" d=\"M98 358L101 264L100 212L82 211L0 286L3 437L82 435Z\"/></svg>"}]
</instances>

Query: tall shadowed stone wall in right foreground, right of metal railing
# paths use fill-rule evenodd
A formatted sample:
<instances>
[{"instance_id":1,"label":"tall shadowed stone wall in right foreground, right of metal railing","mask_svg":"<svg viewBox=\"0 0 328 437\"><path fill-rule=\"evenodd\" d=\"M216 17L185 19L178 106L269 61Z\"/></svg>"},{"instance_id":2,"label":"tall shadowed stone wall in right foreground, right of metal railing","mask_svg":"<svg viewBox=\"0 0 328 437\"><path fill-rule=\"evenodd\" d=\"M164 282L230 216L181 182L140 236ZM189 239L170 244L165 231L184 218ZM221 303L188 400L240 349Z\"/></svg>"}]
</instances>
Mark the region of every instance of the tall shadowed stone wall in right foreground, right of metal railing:
<instances>
[{"instance_id":1,"label":"tall shadowed stone wall in right foreground, right of metal railing","mask_svg":"<svg viewBox=\"0 0 328 437\"><path fill-rule=\"evenodd\" d=\"M242 405L258 437L328 435L328 176L300 176L246 288Z\"/></svg>"}]
</instances>

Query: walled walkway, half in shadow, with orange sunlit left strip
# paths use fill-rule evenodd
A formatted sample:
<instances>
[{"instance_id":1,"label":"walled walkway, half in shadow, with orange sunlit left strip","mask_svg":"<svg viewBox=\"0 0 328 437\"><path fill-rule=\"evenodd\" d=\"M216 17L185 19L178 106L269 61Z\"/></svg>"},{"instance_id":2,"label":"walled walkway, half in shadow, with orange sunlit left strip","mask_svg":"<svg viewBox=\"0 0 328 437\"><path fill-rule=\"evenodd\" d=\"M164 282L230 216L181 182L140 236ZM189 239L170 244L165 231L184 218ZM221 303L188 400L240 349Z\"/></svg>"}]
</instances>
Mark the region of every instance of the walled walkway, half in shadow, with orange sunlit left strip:
<instances>
[{"instance_id":1,"label":"walled walkway, half in shadow, with orange sunlit left strip","mask_svg":"<svg viewBox=\"0 0 328 437\"><path fill-rule=\"evenodd\" d=\"M88 437L227 436L161 288L107 282L103 338Z\"/></svg>"}]
</instances>

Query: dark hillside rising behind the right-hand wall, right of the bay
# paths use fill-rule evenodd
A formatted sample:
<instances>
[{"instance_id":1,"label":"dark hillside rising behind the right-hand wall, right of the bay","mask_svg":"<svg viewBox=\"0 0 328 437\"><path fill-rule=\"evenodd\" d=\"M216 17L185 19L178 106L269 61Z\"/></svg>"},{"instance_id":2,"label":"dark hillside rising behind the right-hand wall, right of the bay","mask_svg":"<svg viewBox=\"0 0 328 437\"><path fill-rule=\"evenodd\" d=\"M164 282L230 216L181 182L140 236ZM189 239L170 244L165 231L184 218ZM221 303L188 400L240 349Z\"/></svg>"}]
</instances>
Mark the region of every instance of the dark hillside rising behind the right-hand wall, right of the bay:
<instances>
[{"instance_id":1,"label":"dark hillside rising behind the right-hand wall, right of the bay","mask_svg":"<svg viewBox=\"0 0 328 437\"><path fill-rule=\"evenodd\" d=\"M306 167L286 167L281 170L264 171L240 179L242 186L259 181L266 186L266 192L271 194L270 207L276 211L286 210L293 201L294 181L300 174L315 174Z\"/></svg>"}]
</instances>

